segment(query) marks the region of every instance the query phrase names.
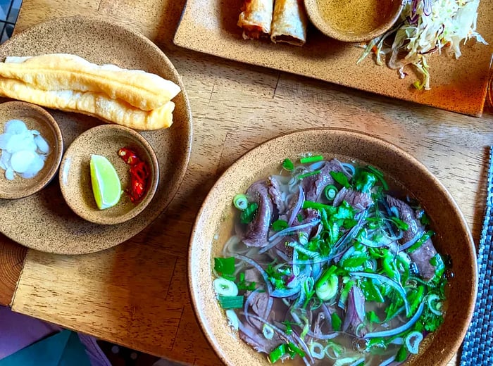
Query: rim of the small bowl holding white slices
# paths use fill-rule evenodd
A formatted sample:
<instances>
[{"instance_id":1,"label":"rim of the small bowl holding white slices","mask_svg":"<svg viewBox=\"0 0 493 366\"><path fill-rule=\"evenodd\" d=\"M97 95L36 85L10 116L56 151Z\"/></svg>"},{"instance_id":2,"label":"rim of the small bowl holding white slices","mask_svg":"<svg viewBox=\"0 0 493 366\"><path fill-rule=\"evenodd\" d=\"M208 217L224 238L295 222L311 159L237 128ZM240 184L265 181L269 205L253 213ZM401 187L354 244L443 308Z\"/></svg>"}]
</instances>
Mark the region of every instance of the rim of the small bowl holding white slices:
<instances>
[{"instance_id":1,"label":"rim of the small bowl holding white slices","mask_svg":"<svg viewBox=\"0 0 493 366\"><path fill-rule=\"evenodd\" d=\"M63 135L61 133L60 126L58 126L58 122L56 122L53 115L51 115L51 113L46 111L46 109L37 106L36 104L28 103L27 101L6 101L4 103L0 103L0 106L4 106L4 107L19 106L19 107L30 109L30 111L32 111L33 114L41 116L45 122L48 122L48 125L50 125L55 132L55 139L56 139L56 149L54 149L55 160L54 160L54 164L51 165L51 168L46 174L46 176L44 177L44 179L42 179L39 183L33 185L29 189L18 191L18 193L0 191L1 199L25 198L44 189L44 187L46 187L51 182L51 180L55 177L56 172L58 172L58 168L60 167L61 159L63 156Z\"/></svg>"}]
</instances>

